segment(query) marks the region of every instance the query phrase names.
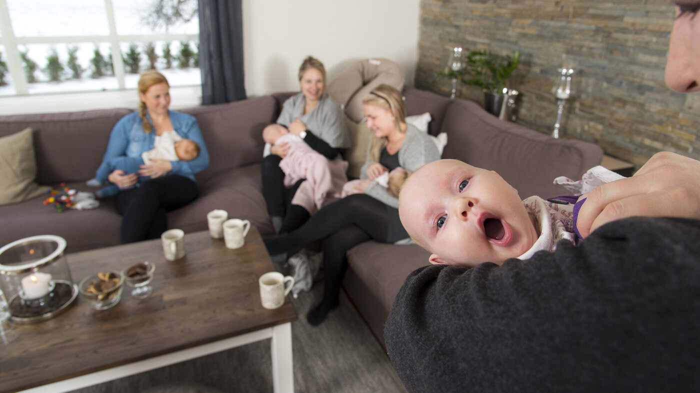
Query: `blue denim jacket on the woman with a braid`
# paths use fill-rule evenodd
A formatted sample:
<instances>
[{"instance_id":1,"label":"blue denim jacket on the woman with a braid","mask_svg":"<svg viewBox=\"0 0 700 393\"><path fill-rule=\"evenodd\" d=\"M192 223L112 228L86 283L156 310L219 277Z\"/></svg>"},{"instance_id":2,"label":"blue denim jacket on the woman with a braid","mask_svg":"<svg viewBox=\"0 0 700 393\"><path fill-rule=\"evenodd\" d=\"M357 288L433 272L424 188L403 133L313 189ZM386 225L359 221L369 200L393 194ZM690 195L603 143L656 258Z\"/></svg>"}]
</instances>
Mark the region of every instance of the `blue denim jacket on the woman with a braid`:
<instances>
[{"instance_id":1,"label":"blue denim jacket on the woman with a braid","mask_svg":"<svg viewBox=\"0 0 700 393\"><path fill-rule=\"evenodd\" d=\"M207 145L204 144L202 130L200 130L200 126L197 125L197 120L193 116L176 111L168 111L168 115L175 132L181 137L192 139L200 145L200 155L197 158L191 161L171 161L173 169L168 174L178 174L194 181L195 173L209 166L209 151L207 151ZM146 117L151 121L148 113L146 113ZM144 151L153 149L154 141L155 128L146 134L144 132L144 122L139 118L139 113L130 113L120 118L112 129L109 143L107 144L107 151L104 153L102 162L104 163L106 160L118 156L139 158Z\"/></svg>"}]
</instances>

